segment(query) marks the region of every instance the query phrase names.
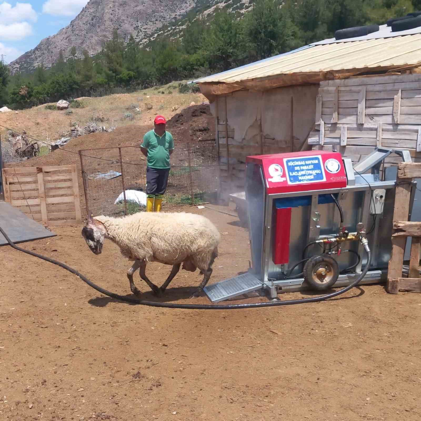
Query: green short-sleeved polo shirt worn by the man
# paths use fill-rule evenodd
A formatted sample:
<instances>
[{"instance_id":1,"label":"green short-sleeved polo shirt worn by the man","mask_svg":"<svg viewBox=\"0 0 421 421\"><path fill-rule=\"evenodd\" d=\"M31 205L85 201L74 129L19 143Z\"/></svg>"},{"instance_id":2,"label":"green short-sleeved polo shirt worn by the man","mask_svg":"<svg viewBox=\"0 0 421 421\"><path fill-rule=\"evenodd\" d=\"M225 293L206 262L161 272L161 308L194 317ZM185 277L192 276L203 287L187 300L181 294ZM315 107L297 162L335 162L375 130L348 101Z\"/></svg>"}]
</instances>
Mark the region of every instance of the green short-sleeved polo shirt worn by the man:
<instances>
[{"instance_id":1,"label":"green short-sleeved polo shirt worn by the man","mask_svg":"<svg viewBox=\"0 0 421 421\"><path fill-rule=\"evenodd\" d=\"M148 150L148 167L170 168L170 150L174 149L174 140L170 132L166 131L160 137L155 130L148 131L140 146Z\"/></svg>"}]
</instances>

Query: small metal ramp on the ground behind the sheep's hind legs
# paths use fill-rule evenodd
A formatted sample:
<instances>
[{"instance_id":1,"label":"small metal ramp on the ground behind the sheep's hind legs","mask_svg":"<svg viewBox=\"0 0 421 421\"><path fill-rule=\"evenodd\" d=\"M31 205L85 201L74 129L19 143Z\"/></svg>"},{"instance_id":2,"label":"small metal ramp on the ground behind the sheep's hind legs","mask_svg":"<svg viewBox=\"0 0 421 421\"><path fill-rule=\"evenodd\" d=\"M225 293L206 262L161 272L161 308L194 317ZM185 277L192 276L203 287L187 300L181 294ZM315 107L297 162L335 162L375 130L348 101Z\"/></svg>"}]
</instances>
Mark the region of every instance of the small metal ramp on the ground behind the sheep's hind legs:
<instances>
[{"instance_id":1,"label":"small metal ramp on the ground behind the sheep's hind legs","mask_svg":"<svg viewBox=\"0 0 421 421\"><path fill-rule=\"evenodd\" d=\"M203 290L210 301L218 303L263 287L261 280L248 272L234 278L229 278L215 284L206 285Z\"/></svg>"}]
</instances>

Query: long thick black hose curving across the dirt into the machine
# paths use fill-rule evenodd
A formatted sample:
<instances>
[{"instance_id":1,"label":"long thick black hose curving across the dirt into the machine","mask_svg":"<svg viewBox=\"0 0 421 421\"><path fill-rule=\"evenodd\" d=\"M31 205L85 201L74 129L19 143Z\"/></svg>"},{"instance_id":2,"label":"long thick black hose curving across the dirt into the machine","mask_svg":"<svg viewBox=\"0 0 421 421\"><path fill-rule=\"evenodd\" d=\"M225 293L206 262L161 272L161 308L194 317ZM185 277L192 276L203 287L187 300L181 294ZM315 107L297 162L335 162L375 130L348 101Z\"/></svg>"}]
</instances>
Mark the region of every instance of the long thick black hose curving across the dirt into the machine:
<instances>
[{"instance_id":1,"label":"long thick black hose curving across the dirt into the machine","mask_svg":"<svg viewBox=\"0 0 421 421\"><path fill-rule=\"evenodd\" d=\"M34 253L29 250L25 250L24 248L18 247L15 245L11 239L8 237L8 235L3 231L2 227L0 226L0 232L3 234L7 242L16 250L21 251L22 253L27 253L31 256L38 257L42 260L48 261L52 264L56 264L57 266L60 266L69 272L74 273L78 277L80 277L83 282L87 283L89 286L91 286L93 289L97 290L98 292L107 295L111 298L115 298L120 301L125 301L131 304L141 304L144 306L150 306L150 307L164 307L168 309L191 309L191 310L231 310L231 309L254 309L259 307L277 307L277 306L290 306L293 304L304 304L304 303L317 303L319 301L325 301L328 298L337 297L338 295L341 295L345 293L346 291L349 291L351 288L354 288L354 286L358 285L358 283L362 280L363 277L365 277L365 274L368 272L368 268L370 267L370 261L371 261L371 252L368 250L367 252L367 264L364 268L364 270L361 272L360 276L357 277L354 282L351 282L347 287L342 288L339 291L322 295L320 297L313 297L313 298L300 298L298 300L287 300L287 301L269 301L266 303L253 303L253 304L228 304L228 305L214 305L214 304L172 304L172 303L157 303L155 301L144 301L144 300L138 300L137 298L130 298L125 297L122 295L118 295L112 292L109 292L105 290L104 288L99 287L98 285L95 285L93 282L91 282L87 277L83 276L77 270L72 269L71 267L67 266L64 263L61 263L59 261L56 261L52 258L42 256L38 253Z\"/></svg>"}]
</instances>

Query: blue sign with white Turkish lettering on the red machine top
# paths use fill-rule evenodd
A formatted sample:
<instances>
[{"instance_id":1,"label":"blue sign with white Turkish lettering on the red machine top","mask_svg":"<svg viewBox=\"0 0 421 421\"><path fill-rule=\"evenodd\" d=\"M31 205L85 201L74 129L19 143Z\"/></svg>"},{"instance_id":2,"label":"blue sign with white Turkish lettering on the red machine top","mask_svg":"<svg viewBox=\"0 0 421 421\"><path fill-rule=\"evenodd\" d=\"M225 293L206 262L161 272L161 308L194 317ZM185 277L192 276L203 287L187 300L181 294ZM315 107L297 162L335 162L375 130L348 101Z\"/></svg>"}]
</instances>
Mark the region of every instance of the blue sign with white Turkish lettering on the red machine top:
<instances>
[{"instance_id":1,"label":"blue sign with white Turkish lettering on the red machine top","mask_svg":"<svg viewBox=\"0 0 421 421\"><path fill-rule=\"evenodd\" d=\"M326 181L320 155L284 158L284 166L288 184Z\"/></svg>"}]
</instances>

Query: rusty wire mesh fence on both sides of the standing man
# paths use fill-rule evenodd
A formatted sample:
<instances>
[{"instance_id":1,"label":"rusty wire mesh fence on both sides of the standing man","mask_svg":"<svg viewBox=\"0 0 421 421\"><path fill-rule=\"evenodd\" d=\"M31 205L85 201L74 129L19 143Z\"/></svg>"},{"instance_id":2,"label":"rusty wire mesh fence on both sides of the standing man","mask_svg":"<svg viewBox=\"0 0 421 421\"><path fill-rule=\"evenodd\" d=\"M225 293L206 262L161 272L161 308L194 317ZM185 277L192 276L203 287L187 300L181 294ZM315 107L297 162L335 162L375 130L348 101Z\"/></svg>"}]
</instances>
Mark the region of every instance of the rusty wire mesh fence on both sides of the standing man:
<instances>
[{"instance_id":1,"label":"rusty wire mesh fence on both sides of the standing man","mask_svg":"<svg viewBox=\"0 0 421 421\"><path fill-rule=\"evenodd\" d=\"M87 208L94 215L127 215L146 209L146 157L139 147L79 151ZM171 155L166 205L199 205L216 197L215 141L177 145Z\"/></svg>"}]
</instances>

